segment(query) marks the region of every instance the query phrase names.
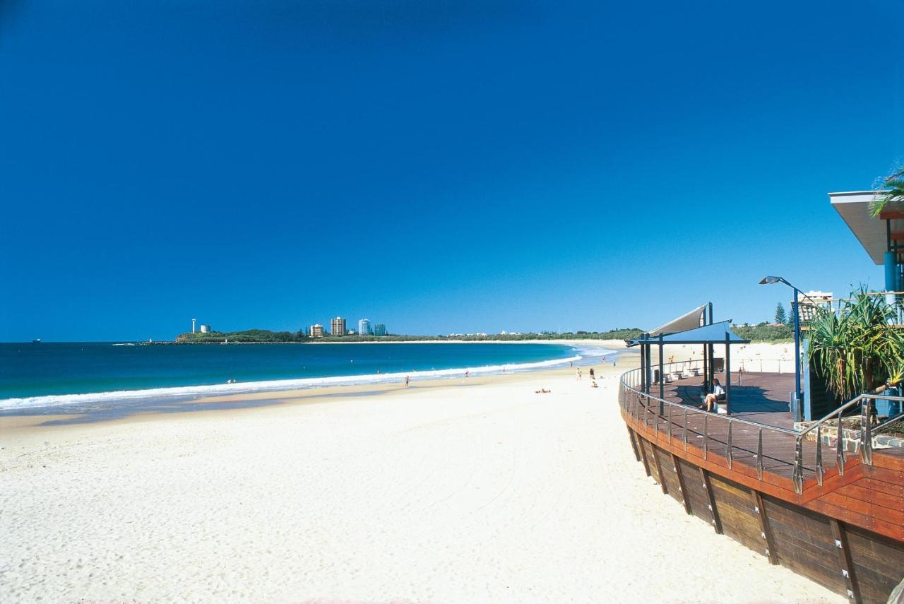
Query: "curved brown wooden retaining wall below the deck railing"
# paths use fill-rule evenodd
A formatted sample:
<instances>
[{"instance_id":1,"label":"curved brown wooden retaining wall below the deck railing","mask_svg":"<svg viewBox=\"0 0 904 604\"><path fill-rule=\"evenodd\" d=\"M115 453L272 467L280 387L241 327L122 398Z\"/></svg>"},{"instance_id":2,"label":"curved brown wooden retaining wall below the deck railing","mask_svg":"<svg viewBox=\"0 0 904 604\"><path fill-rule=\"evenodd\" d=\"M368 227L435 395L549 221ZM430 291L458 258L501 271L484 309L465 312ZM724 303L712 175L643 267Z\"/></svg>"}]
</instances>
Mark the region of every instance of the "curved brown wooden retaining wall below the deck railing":
<instances>
[{"instance_id":1,"label":"curved brown wooden retaining wall below the deck railing","mask_svg":"<svg viewBox=\"0 0 904 604\"><path fill-rule=\"evenodd\" d=\"M655 435L634 425L633 418L625 420L631 447L646 474L664 495L683 505L687 514L711 524L716 533L854 602L884 603L904 580L904 541L863 526L878 521L874 526L882 532L896 534L893 513L904 505L899 460L875 455L873 467L860 467L856 474L846 468L834 486L826 477L818 489L795 495L782 488L783 481L770 483L768 473L757 481L767 489L751 486L749 472L740 464L733 467L740 471L740 481L732 480L727 467L713 471L681 448L654 442ZM651 436L654 439L645 438ZM803 500L806 504L800 505ZM887 525L880 517L888 517L886 510L892 512ZM868 522L864 516L869 516Z\"/></svg>"}]
</instances>

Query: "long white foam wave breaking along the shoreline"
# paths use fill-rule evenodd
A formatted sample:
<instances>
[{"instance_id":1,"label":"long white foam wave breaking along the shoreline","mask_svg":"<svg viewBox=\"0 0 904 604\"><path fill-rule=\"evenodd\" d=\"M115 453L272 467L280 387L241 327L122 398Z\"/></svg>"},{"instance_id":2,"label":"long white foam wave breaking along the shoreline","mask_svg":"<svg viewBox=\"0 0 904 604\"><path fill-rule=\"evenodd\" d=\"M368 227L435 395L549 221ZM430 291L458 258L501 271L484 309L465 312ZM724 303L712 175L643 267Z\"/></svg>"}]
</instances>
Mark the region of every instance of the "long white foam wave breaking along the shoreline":
<instances>
[{"instance_id":1,"label":"long white foam wave breaking along the shoreline","mask_svg":"<svg viewBox=\"0 0 904 604\"><path fill-rule=\"evenodd\" d=\"M601 352L602 351L600 349L596 349L593 351L593 354L598 355ZM507 363L499 365L485 365L483 367L461 367L457 369L438 369L421 372L377 373L369 375L336 375L332 377L299 378L293 380L268 380L266 382L234 382L211 384L206 386L174 386L168 388L148 388L145 390L91 392L88 394L52 394L47 396L33 396L19 399L0 400L0 411L61 407L64 405L78 405L80 403L134 401L137 399L156 399L177 396L198 397L222 394L240 394L246 392L299 390L323 386L346 386L369 383L379 384L386 382L400 382L405 379L405 376L410 376L411 380L415 381L457 377L464 375L465 372L468 372L470 375L523 372L537 370L544 367L554 367L556 365L562 365L565 363L576 363L579 362L581 358L581 355L578 354L565 359L552 359L549 361L538 361L535 363Z\"/></svg>"}]
</instances>

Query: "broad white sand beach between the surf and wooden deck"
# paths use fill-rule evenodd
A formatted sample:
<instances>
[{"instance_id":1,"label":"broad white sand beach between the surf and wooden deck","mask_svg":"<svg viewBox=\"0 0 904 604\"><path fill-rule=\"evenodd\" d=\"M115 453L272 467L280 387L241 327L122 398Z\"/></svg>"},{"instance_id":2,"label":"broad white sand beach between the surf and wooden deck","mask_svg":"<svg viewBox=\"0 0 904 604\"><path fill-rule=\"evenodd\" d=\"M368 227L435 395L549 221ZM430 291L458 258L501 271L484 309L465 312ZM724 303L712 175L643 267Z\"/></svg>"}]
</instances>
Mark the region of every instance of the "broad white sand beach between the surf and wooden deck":
<instances>
[{"instance_id":1,"label":"broad white sand beach between the surf and wooden deck","mask_svg":"<svg viewBox=\"0 0 904 604\"><path fill-rule=\"evenodd\" d=\"M0 419L0 601L844 601L645 477L616 401L634 363L596 389L566 369Z\"/></svg>"}]
</instances>

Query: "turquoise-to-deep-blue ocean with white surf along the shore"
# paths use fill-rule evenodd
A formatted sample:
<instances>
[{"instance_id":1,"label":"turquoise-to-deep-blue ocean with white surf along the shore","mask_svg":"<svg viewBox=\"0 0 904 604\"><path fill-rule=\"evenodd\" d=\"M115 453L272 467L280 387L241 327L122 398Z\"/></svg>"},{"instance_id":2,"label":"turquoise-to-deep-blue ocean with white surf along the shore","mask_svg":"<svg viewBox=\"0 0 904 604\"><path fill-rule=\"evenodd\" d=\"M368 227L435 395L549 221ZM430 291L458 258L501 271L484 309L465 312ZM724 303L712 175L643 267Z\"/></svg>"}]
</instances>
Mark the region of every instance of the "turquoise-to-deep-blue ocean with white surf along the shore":
<instances>
[{"instance_id":1,"label":"turquoise-to-deep-blue ocean with white surf along the shore","mask_svg":"<svg viewBox=\"0 0 904 604\"><path fill-rule=\"evenodd\" d=\"M563 344L0 344L0 411L520 372L589 354L598 361L607 351Z\"/></svg>"}]
</instances>

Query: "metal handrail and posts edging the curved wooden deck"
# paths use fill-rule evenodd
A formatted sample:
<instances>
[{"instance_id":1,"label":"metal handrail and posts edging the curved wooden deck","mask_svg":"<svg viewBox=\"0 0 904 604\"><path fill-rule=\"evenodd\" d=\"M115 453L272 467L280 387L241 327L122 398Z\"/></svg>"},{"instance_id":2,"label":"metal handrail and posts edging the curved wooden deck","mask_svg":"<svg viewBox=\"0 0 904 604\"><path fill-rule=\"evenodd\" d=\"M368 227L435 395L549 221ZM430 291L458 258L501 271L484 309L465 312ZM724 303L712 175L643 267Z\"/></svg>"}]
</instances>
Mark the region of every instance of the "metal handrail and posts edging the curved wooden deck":
<instances>
[{"instance_id":1,"label":"metal handrail and posts edging the curved wooden deck","mask_svg":"<svg viewBox=\"0 0 904 604\"><path fill-rule=\"evenodd\" d=\"M694 359L691 361L676 361L673 363L662 363L661 366L663 368L663 374L659 376L659 379L660 380L665 379L665 375L666 375L665 368L666 367L672 368L674 365L681 365L683 367L690 368L693 364L696 364L696 363L700 363L700 361ZM763 430L767 429L767 430L771 430L773 432L777 432L780 434L785 434L787 436L794 437L794 439L795 439L795 459L793 462L788 462L784 459L771 458L769 456L765 456L765 457L773 459L775 461L779 461L781 463L785 463L785 464L793 467L792 476L793 476L793 481L794 481L794 485L795 485L795 491L797 494L800 494L803 492L804 470L813 471L819 485L823 484L824 467L823 467L823 455L822 455L822 453L823 453L823 451L822 451L822 446L823 446L822 429L824 428L824 423L826 421L833 420L836 417L839 418L839 422L838 422L839 425L838 425L838 430L837 430L837 434L836 434L835 463L836 463L836 466L838 467L838 473L840 475L843 475L844 474L844 465L846 463L846 459L845 459L845 455L844 455L844 448L843 448L843 432L842 432L842 425L841 425L841 421L840 421L843 412L851 409L852 407L854 407L858 404L861 406L862 420L861 420L860 434L858 435L858 438L860 440L860 446L858 448L860 450L861 462L866 465L871 465L872 464L872 437L871 437L871 435L873 433L873 429L871 428L871 425L870 425L869 413L870 413L871 406L870 406L869 402L876 401L876 400L904 402L904 397L900 397L900 396L890 396L890 395L886 395L886 394L859 394L858 396L854 397L851 401L847 401L841 407L828 413L822 419L815 421L813 424L811 424L810 426L808 426L805 429L788 429L788 428L781 428L779 426L770 426L768 424L763 424L763 423L760 423L757 421L743 420L743 419L735 418L735 417L731 417L731 416L723 416L723 415L719 415L719 414L713 414L711 411L703 411L703 410L696 409L696 408L688 406L688 405L684 405L683 403L668 401L666 399L662 399L658 396L655 396L654 394L648 394L646 392L640 391L637 389L637 387L640 385L640 380L638 380L637 378L640 376L642 371L643 371L643 369L638 368L638 369L633 369L626 373L623 373L619 380L620 385L621 385L621 391L622 392L630 392L631 398L636 399L637 420L640 420L640 408L643 407L644 424L645 425L649 425L648 422L649 422L649 420L651 420L651 418L649 418L647 416L647 413L650 412L650 409L652 407L651 402L655 402L656 407L660 407L663 409L665 409L663 407L663 405L668 405L667 422L669 424L669 442L671 442L671 440L672 440L672 429L673 429L673 424L674 424L674 422L672 420L673 407L681 407L684 411L682 440L683 440L683 447L685 450L687 450L687 432L688 432L687 417L688 417L689 412L704 414L703 415L703 434L702 434L702 437L703 437L702 447L703 447L704 458L707 458L709 455L709 452L710 452L709 451L710 436L709 436L709 429L708 429L709 418L716 417L716 418L719 418L720 420L725 420L728 422L728 438L727 438L727 442L723 443L723 444L726 445L725 458L726 458L726 462L727 462L728 466L731 467L732 461L733 461L733 454L732 454L732 450L731 450L732 448L738 448L739 450L746 451L748 453L752 453L757 457L757 474L758 474L758 477L760 477L760 479L762 479L762 473L763 473L762 460L764 458L763 445L762 445ZM668 373L674 373L674 372L670 371ZM628 383L629 380L630 380L630 382L633 382L634 385L631 385L630 383ZM621 394L621 392L619 394ZM627 397L625 397L623 399L623 397L620 395L619 396L619 404L622 405L623 409L625 409L626 411L632 412L632 414L633 414L633 411L630 411L627 409L627 405L626 405L627 401L625 400L626 398ZM645 403L641 403L642 399L645 400ZM864 401L867 401L868 404L863 404ZM663 411L654 410L654 414L656 416L660 416L663 418L666 417L666 413L664 413ZM882 429L882 428L890 425L891 423L896 423L897 421L902 420L902 419L904 419L904 412L900 413L895 418L886 420L885 422L883 422L882 424L877 426L875 429ZM733 446L732 439L731 439L731 433L732 433L732 428L733 428L734 424L741 424L741 425L749 426L749 427L752 427L752 428L755 428L758 430L758 447L757 447L756 452L750 451L749 449L746 449L746 448ZM655 422L655 420L654 420L654 425L657 426L656 429L658 430L658 422ZM805 436L807 434L809 434L810 432L812 432L813 430L816 431L815 467L810 468L810 467L805 467L803 444L804 444ZM695 430L690 430L690 431L695 432ZM718 439L714 439L714 440L716 442L721 442Z\"/></svg>"}]
</instances>

